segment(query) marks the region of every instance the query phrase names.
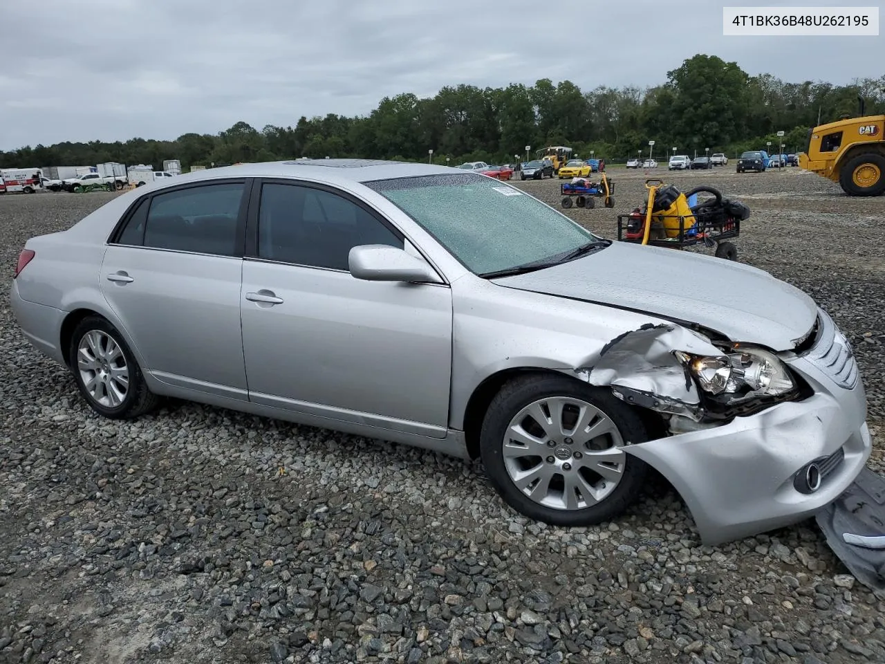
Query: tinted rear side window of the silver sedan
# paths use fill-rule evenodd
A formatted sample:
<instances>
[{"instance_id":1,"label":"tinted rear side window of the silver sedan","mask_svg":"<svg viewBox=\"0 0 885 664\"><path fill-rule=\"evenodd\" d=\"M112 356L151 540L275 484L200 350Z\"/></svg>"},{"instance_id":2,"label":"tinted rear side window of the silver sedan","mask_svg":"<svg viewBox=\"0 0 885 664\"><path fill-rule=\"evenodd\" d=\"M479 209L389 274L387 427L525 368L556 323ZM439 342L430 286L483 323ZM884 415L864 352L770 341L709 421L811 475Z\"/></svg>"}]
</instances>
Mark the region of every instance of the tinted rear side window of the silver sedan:
<instances>
[{"instance_id":1,"label":"tinted rear side window of the silver sedan","mask_svg":"<svg viewBox=\"0 0 885 664\"><path fill-rule=\"evenodd\" d=\"M244 191L241 182L225 182L150 197L135 209L118 243L238 255L238 220Z\"/></svg>"}]
</instances>

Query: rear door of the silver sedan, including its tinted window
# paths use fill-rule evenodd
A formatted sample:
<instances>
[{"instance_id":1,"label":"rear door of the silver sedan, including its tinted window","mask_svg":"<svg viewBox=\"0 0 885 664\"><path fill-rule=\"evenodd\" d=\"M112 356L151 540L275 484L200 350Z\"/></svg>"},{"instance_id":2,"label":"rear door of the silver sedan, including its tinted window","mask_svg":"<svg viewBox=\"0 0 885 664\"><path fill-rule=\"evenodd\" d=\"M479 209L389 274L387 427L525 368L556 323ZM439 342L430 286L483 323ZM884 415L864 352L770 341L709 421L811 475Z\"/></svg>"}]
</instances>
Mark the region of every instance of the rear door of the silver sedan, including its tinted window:
<instances>
[{"instance_id":1,"label":"rear door of the silver sedan, including its tinted window","mask_svg":"<svg viewBox=\"0 0 885 664\"><path fill-rule=\"evenodd\" d=\"M142 197L112 236L101 288L158 380L246 400L240 285L248 181Z\"/></svg>"}]
</instances>

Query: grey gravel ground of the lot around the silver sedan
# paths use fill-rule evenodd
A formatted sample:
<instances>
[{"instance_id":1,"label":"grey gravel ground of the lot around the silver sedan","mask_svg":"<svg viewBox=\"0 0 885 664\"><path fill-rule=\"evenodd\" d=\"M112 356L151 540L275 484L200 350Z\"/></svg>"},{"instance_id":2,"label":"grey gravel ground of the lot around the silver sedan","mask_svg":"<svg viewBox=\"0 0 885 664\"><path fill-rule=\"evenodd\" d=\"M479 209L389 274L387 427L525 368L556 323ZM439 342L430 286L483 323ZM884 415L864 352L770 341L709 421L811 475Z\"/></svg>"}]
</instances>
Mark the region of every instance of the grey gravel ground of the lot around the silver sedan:
<instances>
[{"instance_id":1,"label":"grey gravel ground of the lot around the silver sedan","mask_svg":"<svg viewBox=\"0 0 885 664\"><path fill-rule=\"evenodd\" d=\"M885 197L797 169L650 174L750 205L740 259L850 336L881 446ZM614 235L645 176L612 169L615 210L568 213ZM558 181L517 184L558 205ZM7 274L112 196L0 197ZM104 421L0 307L0 661L885 661L885 602L813 523L705 547L652 486L616 523L551 528L478 463L200 405Z\"/></svg>"}]
</instances>

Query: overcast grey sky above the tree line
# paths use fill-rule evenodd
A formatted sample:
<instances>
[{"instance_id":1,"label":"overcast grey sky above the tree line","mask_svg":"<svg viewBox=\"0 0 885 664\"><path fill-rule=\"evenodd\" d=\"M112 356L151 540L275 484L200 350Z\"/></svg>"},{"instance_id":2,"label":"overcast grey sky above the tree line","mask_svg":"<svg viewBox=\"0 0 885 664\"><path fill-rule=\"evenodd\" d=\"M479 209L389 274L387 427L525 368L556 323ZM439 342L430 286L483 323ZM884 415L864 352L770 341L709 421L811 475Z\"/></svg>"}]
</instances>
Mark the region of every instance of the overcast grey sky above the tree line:
<instances>
[{"instance_id":1,"label":"overcast grey sky above the tree line","mask_svg":"<svg viewBox=\"0 0 885 664\"><path fill-rule=\"evenodd\" d=\"M885 73L885 38L724 37L741 0L0 0L0 150L171 139L540 78L654 85L696 53L785 81ZM806 2L754 4L807 5ZM877 5L881 0L829 6ZM583 14L583 18L581 18ZM566 43L569 45L566 47Z\"/></svg>"}]
</instances>

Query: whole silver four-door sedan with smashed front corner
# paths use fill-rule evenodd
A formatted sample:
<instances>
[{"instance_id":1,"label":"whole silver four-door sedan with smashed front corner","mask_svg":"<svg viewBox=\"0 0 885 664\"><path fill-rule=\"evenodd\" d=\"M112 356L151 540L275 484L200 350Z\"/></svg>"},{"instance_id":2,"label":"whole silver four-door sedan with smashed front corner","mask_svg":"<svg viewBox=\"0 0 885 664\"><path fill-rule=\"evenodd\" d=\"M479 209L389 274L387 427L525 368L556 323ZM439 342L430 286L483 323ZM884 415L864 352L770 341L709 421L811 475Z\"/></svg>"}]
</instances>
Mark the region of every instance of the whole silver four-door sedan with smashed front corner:
<instances>
[{"instance_id":1,"label":"whole silver four-door sedan with smashed front corner","mask_svg":"<svg viewBox=\"0 0 885 664\"><path fill-rule=\"evenodd\" d=\"M803 292L456 168L158 182L28 240L12 306L105 417L175 397L481 457L554 524L615 518L654 468L714 544L827 506L870 453L850 345Z\"/></svg>"}]
</instances>

